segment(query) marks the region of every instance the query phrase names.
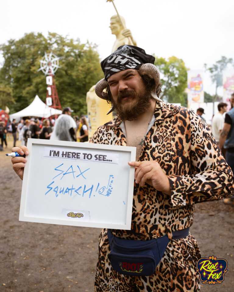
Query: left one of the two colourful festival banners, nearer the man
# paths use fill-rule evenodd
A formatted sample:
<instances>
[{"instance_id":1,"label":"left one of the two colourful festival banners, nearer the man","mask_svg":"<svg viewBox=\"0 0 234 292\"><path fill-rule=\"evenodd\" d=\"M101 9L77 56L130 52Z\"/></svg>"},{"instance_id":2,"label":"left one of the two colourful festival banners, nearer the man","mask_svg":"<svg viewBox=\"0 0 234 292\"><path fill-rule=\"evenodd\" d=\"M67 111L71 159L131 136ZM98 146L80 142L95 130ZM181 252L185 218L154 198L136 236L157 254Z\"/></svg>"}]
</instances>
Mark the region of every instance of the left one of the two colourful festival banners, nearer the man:
<instances>
[{"instance_id":1,"label":"left one of the two colourful festival banners, nearer the man","mask_svg":"<svg viewBox=\"0 0 234 292\"><path fill-rule=\"evenodd\" d=\"M187 81L188 93L188 108L191 103L204 103L204 90L203 90L203 74L202 70L189 70Z\"/></svg>"}]
</instances>

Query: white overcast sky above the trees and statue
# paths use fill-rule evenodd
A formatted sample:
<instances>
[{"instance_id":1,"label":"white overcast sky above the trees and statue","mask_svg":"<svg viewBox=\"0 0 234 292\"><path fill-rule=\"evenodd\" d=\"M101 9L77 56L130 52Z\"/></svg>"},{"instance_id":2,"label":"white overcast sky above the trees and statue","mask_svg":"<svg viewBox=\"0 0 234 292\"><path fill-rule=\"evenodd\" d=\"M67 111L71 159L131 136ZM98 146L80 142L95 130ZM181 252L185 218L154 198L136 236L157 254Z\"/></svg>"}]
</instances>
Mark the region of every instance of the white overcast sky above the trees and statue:
<instances>
[{"instance_id":1,"label":"white overcast sky above the trees and statue","mask_svg":"<svg viewBox=\"0 0 234 292\"><path fill-rule=\"evenodd\" d=\"M126 27L146 53L183 59L187 68L204 69L221 56L234 59L233 0L114 0ZM115 36L106 0L0 0L0 43L24 33L48 31L98 45L101 59L111 53ZM0 66L3 59L0 56ZM38 64L38 68L39 68ZM215 93L206 74L204 90ZM221 91L222 94L222 91Z\"/></svg>"}]
</instances>

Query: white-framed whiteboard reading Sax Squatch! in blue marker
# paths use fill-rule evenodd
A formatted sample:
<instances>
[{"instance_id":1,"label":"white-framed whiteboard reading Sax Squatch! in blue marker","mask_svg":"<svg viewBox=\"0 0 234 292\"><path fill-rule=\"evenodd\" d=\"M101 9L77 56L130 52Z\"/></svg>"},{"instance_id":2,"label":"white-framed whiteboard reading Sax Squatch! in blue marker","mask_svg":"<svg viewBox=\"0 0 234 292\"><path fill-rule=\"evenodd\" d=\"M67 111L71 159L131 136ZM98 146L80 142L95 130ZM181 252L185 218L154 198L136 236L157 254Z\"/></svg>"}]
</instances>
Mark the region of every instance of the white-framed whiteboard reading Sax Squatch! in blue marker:
<instances>
[{"instance_id":1,"label":"white-framed whiteboard reading Sax Squatch! in blue marker","mask_svg":"<svg viewBox=\"0 0 234 292\"><path fill-rule=\"evenodd\" d=\"M136 148L28 139L19 220L131 229Z\"/></svg>"}]
</instances>

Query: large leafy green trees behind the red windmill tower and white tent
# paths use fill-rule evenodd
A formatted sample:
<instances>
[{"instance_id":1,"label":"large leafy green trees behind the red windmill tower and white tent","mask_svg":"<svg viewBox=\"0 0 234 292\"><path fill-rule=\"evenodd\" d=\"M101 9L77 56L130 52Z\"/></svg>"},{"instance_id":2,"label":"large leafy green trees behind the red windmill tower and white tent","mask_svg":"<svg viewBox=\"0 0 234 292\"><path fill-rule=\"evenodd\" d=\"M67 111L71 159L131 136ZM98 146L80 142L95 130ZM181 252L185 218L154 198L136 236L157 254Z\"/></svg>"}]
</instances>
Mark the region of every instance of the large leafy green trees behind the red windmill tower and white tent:
<instances>
[{"instance_id":1,"label":"large leafy green trees behind the red windmill tower and white tent","mask_svg":"<svg viewBox=\"0 0 234 292\"><path fill-rule=\"evenodd\" d=\"M0 69L2 84L12 90L15 101L7 104L11 113L28 106L38 94L45 102L46 81L40 68L44 52L60 57L59 68L55 73L55 84L62 108L70 106L74 114L87 113L86 93L96 84L103 73L96 45L80 40L69 39L57 33L28 33L19 40L9 40L0 46L5 59Z\"/></svg>"}]
</instances>

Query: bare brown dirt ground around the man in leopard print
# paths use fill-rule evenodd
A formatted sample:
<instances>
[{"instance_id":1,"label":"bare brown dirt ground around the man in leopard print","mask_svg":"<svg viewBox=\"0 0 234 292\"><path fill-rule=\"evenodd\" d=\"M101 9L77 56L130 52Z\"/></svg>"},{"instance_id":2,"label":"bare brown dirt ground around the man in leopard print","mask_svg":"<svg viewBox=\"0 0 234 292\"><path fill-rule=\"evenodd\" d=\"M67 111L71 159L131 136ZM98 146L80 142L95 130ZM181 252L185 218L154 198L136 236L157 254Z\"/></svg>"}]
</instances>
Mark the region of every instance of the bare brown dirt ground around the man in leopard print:
<instances>
[{"instance_id":1,"label":"bare brown dirt ground around the man in leopard print","mask_svg":"<svg viewBox=\"0 0 234 292\"><path fill-rule=\"evenodd\" d=\"M12 141L8 145L0 151L0 290L94 291L101 229L19 221L22 181L13 172L10 158L5 156ZM198 241L202 256L214 255L228 262L225 280L215 285L201 284L202 292L233 291L233 227L233 207L222 201L196 205L190 231Z\"/></svg>"}]
</instances>

